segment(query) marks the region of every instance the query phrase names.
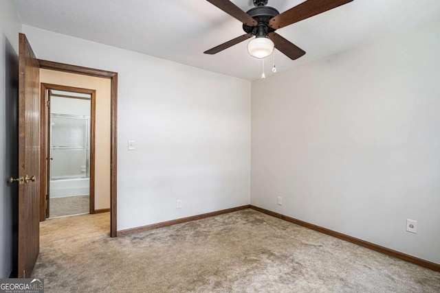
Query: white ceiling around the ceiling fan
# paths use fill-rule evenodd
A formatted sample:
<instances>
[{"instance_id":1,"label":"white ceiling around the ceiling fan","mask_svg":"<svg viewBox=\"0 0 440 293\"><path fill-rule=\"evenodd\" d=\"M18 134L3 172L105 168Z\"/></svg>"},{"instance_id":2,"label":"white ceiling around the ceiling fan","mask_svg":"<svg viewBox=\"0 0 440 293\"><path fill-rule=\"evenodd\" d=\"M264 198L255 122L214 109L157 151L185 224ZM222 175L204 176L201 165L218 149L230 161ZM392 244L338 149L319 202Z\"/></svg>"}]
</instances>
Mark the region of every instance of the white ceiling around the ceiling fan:
<instances>
[{"instance_id":1,"label":"white ceiling around the ceiling fan","mask_svg":"<svg viewBox=\"0 0 440 293\"><path fill-rule=\"evenodd\" d=\"M252 0L232 0L243 10ZM269 0L279 12L304 0ZM21 21L69 36L137 51L210 71L256 80L261 60L252 58L248 41L216 55L203 51L245 34L241 23L205 0L14 0ZM276 51L283 71L372 38L440 19L440 0L354 0L277 30L305 50L298 60ZM266 75L273 74L272 56Z\"/></svg>"}]
</instances>

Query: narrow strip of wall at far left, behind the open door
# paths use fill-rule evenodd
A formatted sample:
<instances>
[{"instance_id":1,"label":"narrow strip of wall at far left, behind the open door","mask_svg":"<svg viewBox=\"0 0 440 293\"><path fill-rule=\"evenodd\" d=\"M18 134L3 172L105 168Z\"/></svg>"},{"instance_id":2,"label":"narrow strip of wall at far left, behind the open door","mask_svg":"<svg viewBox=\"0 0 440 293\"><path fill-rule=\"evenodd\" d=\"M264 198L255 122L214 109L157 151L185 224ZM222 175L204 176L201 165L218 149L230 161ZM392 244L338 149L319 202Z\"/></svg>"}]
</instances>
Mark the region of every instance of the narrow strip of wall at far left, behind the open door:
<instances>
[{"instance_id":1,"label":"narrow strip of wall at far left, behind the open door","mask_svg":"<svg viewBox=\"0 0 440 293\"><path fill-rule=\"evenodd\" d=\"M13 218L13 196L10 185L6 184L7 178L18 174L10 174L10 148L11 141L8 131L11 113L9 105L12 100L18 99L18 76L11 76L6 72L10 66L17 65L19 51L19 32L21 23L19 21L14 3L10 0L0 1L0 278L7 278L12 271L14 261L12 253L12 218ZM18 73L18 70L17 70ZM14 94L14 95L12 95ZM18 134L17 134L18 140ZM18 167L18 159L17 159ZM18 172L18 170L17 170Z\"/></svg>"}]
</instances>

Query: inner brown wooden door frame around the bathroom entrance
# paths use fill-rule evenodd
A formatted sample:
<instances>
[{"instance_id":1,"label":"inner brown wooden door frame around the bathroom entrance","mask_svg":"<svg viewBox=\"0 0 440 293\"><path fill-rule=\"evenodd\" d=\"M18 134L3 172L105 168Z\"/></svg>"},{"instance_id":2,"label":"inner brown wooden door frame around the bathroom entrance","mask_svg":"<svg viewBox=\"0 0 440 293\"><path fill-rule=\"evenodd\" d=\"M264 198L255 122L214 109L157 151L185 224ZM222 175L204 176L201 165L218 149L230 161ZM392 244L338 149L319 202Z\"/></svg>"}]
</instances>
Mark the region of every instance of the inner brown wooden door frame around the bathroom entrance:
<instances>
[{"instance_id":1,"label":"inner brown wooden door frame around the bathroom entrance","mask_svg":"<svg viewBox=\"0 0 440 293\"><path fill-rule=\"evenodd\" d=\"M47 206L47 194L49 189L49 176L47 172L50 164L50 94L52 90L69 91L74 93L87 93L90 95L90 161L89 161L89 213L95 213L95 130L96 130L96 90L83 89L74 86L47 84L41 82L40 105L41 105L41 156L40 156L40 221L44 221L49 213ZM69 97L72 99L84 99L83 97ZM45 141L43 141L45 139Z\"/></svg>"}]
</instances>

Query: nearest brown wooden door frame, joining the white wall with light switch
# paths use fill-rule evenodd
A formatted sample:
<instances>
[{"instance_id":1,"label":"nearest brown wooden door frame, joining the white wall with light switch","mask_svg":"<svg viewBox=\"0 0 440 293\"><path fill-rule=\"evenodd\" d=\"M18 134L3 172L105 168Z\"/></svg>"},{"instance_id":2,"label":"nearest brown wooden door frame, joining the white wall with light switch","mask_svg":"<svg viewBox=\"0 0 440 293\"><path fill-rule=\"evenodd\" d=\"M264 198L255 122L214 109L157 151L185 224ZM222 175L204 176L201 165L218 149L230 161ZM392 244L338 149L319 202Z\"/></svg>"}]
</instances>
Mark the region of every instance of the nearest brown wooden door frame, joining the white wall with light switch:
<instances>
[{"instance_id":1,"label":"nearest brown wooden door frame, joining the white wall with light switch","mask_svg":"<svg viewBox=\"0 0 440 293\"><path fill-rule=\"evenodd\" d=\"M96 78L110 79L110 236L118 236L117 225L117 150L118 150L118 73L104 71L76 65L67 65L65 63L47 61L38 59L40 69L50 69L54 71L63 71L67 73L76 73L81 75L94 76ZM43 115L42 115L43 116ZM43 131L41 131L41 134ZM46 138L45 138L46 139ZM44 154L45 155L45 154Z\"/></svg>"}]
</instances>

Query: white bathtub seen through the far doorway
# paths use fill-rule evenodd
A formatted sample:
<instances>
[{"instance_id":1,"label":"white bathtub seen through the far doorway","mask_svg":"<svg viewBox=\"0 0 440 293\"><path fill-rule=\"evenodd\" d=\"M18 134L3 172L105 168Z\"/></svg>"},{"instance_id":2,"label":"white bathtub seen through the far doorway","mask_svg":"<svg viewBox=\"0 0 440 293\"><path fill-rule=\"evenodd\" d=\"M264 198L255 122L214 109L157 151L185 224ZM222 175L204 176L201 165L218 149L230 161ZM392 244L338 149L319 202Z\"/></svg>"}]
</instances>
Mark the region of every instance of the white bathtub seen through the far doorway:
<instances>
[{"instance_id":1,"label":"white bathtub seen through the far doorway","mask_svg":"<svg viewBox=\"0 0 440 293\"><path fill-rule=\"evenodd\" d=\"M50 198L65 198L67 196L88 196L89 187L89 178L50 180Z\"/></svg>"}]
</instances>

